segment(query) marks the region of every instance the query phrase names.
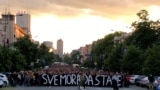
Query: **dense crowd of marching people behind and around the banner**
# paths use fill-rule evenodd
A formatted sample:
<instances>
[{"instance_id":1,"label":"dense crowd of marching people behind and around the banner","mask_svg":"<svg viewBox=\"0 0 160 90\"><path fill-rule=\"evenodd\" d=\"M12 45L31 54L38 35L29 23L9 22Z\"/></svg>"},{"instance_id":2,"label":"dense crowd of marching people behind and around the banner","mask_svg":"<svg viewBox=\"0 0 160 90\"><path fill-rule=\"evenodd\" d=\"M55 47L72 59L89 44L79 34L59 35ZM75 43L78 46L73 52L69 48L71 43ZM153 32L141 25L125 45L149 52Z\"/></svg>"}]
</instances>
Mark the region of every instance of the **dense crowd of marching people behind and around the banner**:
<instances>
[{"instance_id":1,"label":"dense crowd of marching people behind and around the banner","mask_svg":"<svg viewBox=\"0 0 160 90\"><path fill-rule=\"evenodd\" d=\"M117 85L116 79L117 75L120 75L121 78L121 87L129 87L129 76L126 73L118 73L118 72L108 72L103 70L94 70L94 69L82 69L80 67L74 67L71 65L52 65L48 69L39 69L34 71L20 71L20 72L12 72L8 74L8 79L11 86L17 85L25 85L25 86L41 86L42 82L42 74L49 75L62 75L62 74L80 74L80 75L110 75L113 80L113 88L114 90L118 90L119 86ZM83 83L85 86L85 83Z\"/></svg>"}]
</instances>

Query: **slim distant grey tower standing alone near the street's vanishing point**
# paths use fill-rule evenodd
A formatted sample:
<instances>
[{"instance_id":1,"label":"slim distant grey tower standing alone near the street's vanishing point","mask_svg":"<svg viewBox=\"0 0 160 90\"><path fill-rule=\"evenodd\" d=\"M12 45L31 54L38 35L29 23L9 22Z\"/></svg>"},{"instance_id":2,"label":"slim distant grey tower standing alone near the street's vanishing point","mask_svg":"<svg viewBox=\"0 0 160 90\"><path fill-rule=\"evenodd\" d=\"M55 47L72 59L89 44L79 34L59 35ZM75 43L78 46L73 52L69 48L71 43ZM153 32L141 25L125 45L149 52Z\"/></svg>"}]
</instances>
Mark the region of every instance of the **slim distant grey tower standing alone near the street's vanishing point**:
<instances>
[{"instance_id":1,"label":"slim distant grey tower standing alone near the street's vanishing point","mask_svg":"<svg viewBox=\"0 0 160 90\"><path fill-rule=\"evenodd\" d=\"M63 40L57 40L57 54L63 58Z\"/></svg>"}]
</instances>

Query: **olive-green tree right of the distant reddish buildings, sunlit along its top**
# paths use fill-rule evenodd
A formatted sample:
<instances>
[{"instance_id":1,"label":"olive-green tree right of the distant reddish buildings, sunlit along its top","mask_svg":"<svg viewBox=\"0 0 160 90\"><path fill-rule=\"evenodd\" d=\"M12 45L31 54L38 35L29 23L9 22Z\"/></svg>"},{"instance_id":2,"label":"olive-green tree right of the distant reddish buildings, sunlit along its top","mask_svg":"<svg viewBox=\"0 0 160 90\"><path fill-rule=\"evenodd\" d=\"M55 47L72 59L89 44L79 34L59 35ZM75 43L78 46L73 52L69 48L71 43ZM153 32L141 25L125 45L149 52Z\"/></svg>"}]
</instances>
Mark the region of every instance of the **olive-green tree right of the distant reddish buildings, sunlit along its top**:
<instances>
[{"instance_id":1,"label":"olive-green tree right of the distant reddish buildings, sunlit along its top","mask_svg":"<svg viewBox=\"0 0 160 90\"><path fill-rule=\"evenodd\" d=\"M122 34L123 32L115 32L113 34L106 35L104 38L99 39L96 42L93 42L93 60L95 60L95 62L97 63L98 68L104 67L106 70L108 69L108 64L106 63L110 62L108 60L111 60L111 58L114 57L114 55L111 55L111 53L115 53L115 51L113 52L116 45L114 38L121 36Z\"/></svg>"}]
</instances>

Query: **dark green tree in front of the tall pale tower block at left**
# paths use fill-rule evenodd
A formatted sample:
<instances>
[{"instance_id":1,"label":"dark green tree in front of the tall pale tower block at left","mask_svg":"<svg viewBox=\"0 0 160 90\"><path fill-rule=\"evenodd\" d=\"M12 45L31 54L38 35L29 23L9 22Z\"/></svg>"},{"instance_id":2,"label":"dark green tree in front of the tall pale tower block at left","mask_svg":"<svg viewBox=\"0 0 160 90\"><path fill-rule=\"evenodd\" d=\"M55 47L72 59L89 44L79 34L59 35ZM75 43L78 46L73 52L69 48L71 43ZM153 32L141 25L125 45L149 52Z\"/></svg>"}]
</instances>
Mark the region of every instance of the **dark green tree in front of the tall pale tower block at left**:
<instances>
[{"instance_id":1,"label":"dark green tree in front of the tall pale tower block at left","mask_svg":"<svg viewBox=\"0 0 160 90\"><path fill-rule=\"evenodd\" d=\"M29 36L18 38L14 43L14 47L24 55L27 67L26 69L31 69L31 62L36 62L38 58L38 45L34 44Z\"/></svg>"}]
</instances>

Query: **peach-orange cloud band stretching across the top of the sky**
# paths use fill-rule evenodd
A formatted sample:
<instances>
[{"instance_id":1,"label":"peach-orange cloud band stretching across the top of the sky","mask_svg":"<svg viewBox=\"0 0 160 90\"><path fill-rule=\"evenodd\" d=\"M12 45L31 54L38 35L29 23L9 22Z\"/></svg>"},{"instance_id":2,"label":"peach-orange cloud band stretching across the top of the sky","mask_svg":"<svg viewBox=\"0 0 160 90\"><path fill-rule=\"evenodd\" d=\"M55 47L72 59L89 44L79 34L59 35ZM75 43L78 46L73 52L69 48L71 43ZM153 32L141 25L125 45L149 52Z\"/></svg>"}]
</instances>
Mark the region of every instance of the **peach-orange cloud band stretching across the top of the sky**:
<instances>
[{"instance_id":1,"label":"peach-orange cloud band stretching across the top of the sky","mask_svg":"<svg viewBox=\"0 0 160 90\"><path fill-rule=\"evenodd\" d=\"M8 2L7 2L8 1ZM1 0L0 9L10 6L11 12L29 11L33 15L43 13L58 17L76 17L83 14L108 18L131 16L150 5L160 5L159 0ZM89 10L89 12L86 12Z\"/></svg>"}]
</instances>

